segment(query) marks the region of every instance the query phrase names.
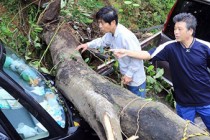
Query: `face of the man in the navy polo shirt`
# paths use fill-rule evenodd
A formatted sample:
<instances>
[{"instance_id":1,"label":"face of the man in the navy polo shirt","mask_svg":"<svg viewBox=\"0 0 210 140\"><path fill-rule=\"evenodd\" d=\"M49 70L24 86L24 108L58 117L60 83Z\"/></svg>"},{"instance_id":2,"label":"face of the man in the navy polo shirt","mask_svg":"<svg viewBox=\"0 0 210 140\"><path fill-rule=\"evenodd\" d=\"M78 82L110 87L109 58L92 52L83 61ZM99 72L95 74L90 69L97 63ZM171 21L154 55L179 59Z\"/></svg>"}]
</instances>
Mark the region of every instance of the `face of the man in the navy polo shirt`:
<instances>
[{"instance_id":1,"label":"face of the man in the navy polo shirt","mask_svg":"<svg viewBox=\"0 0 210 140\"><path fill-rule=\"evenodd\" d=\"M176 38L176 41L178 42L185 42L188 40L190 37L192 37L193 30L187 29L186 23L181 21L181 22L176 22L174 26L174 35Z\"/></svg>"}]
</instances>

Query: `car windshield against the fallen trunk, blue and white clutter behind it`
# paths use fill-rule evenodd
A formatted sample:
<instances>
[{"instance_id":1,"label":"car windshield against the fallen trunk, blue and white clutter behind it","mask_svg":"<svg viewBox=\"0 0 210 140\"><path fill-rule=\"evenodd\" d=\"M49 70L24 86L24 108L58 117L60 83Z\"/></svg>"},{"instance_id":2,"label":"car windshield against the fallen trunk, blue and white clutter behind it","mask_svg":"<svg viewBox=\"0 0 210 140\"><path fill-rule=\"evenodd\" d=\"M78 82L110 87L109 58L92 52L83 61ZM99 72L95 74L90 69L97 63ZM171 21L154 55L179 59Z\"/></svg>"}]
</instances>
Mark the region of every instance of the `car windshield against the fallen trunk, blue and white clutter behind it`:
<instances>
[{"instance_id":1,"label":"car windshield against the fallen trunk, blue and white clutter behind it","mask_svg":"<svg viewBox=\"0 0 210 140\"><path fill-rule=\"evenodd\" d=\"M20 84L61 126L65 127L65 112L56 89L36 69L6 48L3 70Z\"/></svg>"}]
</instances>

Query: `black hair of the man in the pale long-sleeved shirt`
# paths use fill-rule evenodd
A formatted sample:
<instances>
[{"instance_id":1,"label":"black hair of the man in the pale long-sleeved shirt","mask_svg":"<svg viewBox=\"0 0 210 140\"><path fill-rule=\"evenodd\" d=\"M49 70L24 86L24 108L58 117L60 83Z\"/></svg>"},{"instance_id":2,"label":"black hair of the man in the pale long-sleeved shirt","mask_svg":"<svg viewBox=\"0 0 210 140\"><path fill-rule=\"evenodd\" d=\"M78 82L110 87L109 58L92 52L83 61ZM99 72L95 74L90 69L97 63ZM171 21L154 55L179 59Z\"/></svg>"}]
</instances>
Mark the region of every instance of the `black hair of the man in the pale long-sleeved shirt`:
<instances>
[{"instance_id":1,"label":"black hair of the man in the pale long-sleeved shirt","mask_svg":"<svg viewBox=\"0 0 210 140\"><path fill-rule=\"evenodd\" d=\"M105 6L103 8L101 8L97 13L96 13L96 19L97 20L103 20L109 24L111 24L111 22L113 20L115 20L116 25L118 24L118 15L117 15L117 11L111 7L111 6Z\"/></svg>"}]
</instances>

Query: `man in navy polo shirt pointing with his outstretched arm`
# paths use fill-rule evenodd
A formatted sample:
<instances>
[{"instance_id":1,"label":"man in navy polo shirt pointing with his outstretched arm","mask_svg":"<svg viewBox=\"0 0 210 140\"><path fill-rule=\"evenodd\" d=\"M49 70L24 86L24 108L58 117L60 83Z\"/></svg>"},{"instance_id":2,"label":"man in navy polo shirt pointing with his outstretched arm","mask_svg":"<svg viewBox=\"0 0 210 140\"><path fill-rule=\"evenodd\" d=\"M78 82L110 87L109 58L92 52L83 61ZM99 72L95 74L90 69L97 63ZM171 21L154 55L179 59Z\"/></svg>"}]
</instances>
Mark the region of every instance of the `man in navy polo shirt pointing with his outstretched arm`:
<instances>
[{"instance_id":1,"label":"man in navy polo shirt pointing with his outstretched arm","mask_svg":"<svg viewBox=\"0 0 210 140\"><path fill-rule=\"evenodd\" d=\"M117 57L167 61L174 86L177 114L194 122L197 113L210 130L210 43L194 37L197 21L192 14L180 13L173 21L176 40L168 41L149 52L114 49L114 54Z\"/></svg>"}]
</instances>

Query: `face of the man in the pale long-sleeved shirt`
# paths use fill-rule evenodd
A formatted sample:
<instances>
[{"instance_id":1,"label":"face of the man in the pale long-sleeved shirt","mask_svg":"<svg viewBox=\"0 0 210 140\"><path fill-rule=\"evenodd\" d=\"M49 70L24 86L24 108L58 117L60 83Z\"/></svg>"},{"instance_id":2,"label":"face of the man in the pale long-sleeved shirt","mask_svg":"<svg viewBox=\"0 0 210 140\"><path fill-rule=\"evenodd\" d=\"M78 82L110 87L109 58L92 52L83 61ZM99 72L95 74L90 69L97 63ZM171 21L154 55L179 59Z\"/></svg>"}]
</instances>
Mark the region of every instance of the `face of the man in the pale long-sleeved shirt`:
<instances>
[{"instance_id":1,"label":"face of the man in the pale long-sleeved shirt","mask_svg":"<svg viewBox=\"0 0 210 140\"><path fill-rule=\"evenodd\" d=\"M103 33L113 32L115 26L115 21L112 21L111 24L105 22L104 20L98 20L99 28Z\"/></svg>"}]
</instances>

